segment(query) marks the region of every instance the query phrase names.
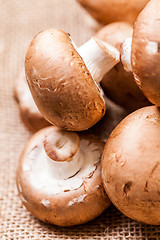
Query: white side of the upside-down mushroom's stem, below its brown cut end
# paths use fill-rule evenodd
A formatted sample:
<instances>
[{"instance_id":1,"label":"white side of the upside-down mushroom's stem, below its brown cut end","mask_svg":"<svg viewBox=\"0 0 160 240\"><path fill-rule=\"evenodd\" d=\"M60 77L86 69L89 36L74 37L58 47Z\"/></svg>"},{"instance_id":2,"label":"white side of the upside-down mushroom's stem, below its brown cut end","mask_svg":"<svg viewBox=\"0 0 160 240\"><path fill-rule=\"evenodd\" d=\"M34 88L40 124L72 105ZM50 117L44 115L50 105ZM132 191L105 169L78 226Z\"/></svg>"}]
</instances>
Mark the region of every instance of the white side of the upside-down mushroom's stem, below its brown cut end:
<instances>
[{"instance_id":1,"label":"white side of the upside-down mushroom's stem, below its brown cut end","mask_svg":"<svg viewBox=\"0 0 160 240\"><path fill-rule=\"evenodd\" d=\"M80 150L71 161L57 162L47 157L48 169L51 176L57 180L66 180L78 173L83 165L84 157Z\"/></svg>"}]
</instances>

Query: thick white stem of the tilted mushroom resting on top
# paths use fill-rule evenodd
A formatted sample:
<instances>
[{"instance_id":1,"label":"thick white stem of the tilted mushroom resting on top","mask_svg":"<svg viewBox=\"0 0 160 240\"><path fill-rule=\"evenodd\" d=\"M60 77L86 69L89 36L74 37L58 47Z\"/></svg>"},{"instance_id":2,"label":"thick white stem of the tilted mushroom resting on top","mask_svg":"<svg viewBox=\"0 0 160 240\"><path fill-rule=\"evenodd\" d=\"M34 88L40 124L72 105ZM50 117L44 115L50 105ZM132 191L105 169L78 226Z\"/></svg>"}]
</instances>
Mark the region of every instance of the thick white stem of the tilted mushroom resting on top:
<instances>
[{"instance_id":1,"label":"thick white stem of the tilted mushroom resting on top","mask_svg":"<svg viewBox=\"0 0 160 240\"><path fill-rule=\"evenodd\" d=\"M99 83L119 61L120 53L112 45L92 37L77 49L93 80Z\"/></svg>"}]
</instances>

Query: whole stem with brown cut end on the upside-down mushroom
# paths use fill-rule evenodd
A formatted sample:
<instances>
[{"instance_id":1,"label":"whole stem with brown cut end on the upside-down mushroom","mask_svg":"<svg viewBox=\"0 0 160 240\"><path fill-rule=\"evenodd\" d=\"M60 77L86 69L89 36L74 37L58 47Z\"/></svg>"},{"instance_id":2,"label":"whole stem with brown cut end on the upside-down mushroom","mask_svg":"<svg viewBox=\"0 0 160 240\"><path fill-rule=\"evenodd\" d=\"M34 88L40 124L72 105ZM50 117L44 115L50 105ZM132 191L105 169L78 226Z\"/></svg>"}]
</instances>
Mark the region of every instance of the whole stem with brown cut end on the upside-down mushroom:
<instances>
[{"instance_id":1,"label":"whole stem with brown cut end on the upside-down mushroom","mask_svg":"<svg viewBox=\"0 0 160 240\"><path fill-rule=\"evenodd\" d=\"M74 176L83 165L83 153L76 133L56 129L44 141L44 150L51 175L56 179Z\"/></svg>"}]
</instances>

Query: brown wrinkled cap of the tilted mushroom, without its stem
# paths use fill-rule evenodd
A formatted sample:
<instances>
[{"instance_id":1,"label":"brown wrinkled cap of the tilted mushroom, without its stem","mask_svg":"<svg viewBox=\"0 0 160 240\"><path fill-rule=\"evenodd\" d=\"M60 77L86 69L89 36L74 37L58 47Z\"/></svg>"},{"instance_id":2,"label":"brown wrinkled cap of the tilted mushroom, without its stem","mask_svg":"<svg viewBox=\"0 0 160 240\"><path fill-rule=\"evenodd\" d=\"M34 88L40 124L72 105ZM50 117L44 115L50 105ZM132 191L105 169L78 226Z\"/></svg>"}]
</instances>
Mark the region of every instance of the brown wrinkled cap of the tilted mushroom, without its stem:
<instances>
[{"instance_id":1,"label":"brown wrinkled cap of the tilted mushroom, without its stem","mask_svg":"<svg viewBox=\"0 0 160 240\"><path fill-rule=\"evenodd\" d=\"M81 131L104 115L100 89L63 31L39 33L28 48L25 68L35 103L50 123Z\"/></svg>"}]
</instances>

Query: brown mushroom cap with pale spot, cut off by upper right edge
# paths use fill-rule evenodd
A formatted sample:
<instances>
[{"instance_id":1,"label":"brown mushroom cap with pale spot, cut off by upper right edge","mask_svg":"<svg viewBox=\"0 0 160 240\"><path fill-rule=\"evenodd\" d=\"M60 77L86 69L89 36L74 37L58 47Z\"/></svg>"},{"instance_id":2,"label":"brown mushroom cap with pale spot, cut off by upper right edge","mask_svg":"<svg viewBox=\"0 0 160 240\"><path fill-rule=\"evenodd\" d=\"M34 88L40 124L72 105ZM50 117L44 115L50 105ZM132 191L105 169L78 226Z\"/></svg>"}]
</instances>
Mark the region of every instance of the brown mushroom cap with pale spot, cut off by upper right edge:
<instances>
[{"instance_id":1,"label":"brown mushroom cap with pale spot, cut off by upper right edge","mask_svg":"<svg viewBox=\"0 0 160 240\"><path fill-rule=\"evenodd\" d=\"M131 63L136 83L153 104L160 106L160 1L150 1L134 26Z\"/></svg>"}]
</instances>

